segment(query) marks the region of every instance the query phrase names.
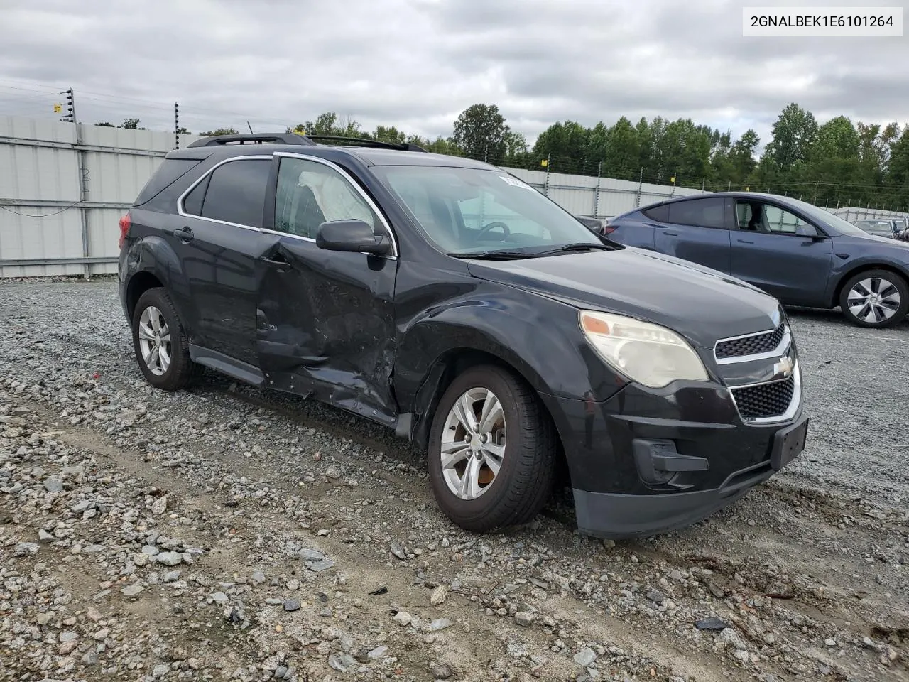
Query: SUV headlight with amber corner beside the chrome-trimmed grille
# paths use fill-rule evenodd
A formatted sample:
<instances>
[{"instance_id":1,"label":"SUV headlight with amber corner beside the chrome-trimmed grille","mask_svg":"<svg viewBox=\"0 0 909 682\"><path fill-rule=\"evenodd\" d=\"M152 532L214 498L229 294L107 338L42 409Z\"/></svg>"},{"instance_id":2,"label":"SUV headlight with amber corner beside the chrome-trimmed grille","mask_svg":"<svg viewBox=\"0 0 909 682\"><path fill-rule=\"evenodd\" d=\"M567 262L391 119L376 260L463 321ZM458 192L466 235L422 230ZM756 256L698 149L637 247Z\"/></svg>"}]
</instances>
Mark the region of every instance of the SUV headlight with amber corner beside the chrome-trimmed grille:
<instances>
[{"instance_id":1,"label":"SUV headlight with amber corner beside the chrome-trimmed grille","mask_svg":"<svg viewBox=\"0 0 909 682\"><path fill-rule=\"evenodd\" d=\"M694 348L671 329L632 317L582 310L584 336L624 376L651 388L677 379L706 381L707 370Z\"/></svg>"}]
</instances>

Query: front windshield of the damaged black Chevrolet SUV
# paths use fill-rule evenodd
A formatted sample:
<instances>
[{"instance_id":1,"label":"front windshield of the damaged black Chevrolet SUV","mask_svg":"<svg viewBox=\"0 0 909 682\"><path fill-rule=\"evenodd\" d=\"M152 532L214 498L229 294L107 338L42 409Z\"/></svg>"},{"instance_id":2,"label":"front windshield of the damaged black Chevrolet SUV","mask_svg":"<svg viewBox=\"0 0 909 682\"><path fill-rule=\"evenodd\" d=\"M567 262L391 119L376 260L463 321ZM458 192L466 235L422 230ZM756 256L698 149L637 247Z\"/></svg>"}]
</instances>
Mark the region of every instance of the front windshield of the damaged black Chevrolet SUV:
<instances>
[{"instance_id":1,"label":"front windshield of the damaged black Chevrolet SUV","mask_svg":"<svg viewBox=\"0 0 909 682\"><path fill-rule=\"evenodd\" d=\"M503 171L450 166L374 168L447 254L533 255L603 242L561 206Z\"/></svg>"}]
</instances>

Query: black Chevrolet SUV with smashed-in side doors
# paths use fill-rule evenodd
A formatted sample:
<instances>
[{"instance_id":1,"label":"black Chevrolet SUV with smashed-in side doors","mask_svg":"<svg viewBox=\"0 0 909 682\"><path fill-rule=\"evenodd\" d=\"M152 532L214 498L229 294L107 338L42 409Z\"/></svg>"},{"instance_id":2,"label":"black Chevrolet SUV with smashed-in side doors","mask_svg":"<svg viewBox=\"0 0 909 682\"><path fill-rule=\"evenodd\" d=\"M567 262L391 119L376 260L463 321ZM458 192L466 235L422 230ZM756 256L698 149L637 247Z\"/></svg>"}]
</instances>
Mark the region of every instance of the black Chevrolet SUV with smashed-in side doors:
<instances>
[{"instance_id":1,"label":"black Chevrolet SUV with smashed-in side doors","mask_svg":"<svg viewBox=\"0 0 909 682\"><path fill-rule=\"evenodd\" d=\"M210 367L395 429L474 532L531 520L559 465L585 534L684 527L804 449L772 296L595 235L492 165L211 137L170 152L120 226L151 385Z\"/></svg>"}]
</instances>

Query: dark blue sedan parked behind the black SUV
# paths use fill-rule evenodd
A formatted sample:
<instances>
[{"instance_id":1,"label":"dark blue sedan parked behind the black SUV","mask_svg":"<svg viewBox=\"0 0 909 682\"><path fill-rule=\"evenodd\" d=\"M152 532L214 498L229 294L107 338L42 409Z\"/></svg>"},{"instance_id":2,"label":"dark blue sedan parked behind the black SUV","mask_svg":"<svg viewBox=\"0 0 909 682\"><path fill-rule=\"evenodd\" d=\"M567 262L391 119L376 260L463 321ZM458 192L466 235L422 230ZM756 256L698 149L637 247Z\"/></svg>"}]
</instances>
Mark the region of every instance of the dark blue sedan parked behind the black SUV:
<instances>
[{"instance_id":1,"label":"dark blue sedan parked behind the black SUV","mask_svg":"<svg viewBox=\"0 0 909 682\"><path fill-rule=\"evenodd\" d=\"M840 306L858 326L895 326L909 312L909 243L787 196L683 196L616 216L603 232L744 280L786 306Z\"/></svg>"}]
</instances>

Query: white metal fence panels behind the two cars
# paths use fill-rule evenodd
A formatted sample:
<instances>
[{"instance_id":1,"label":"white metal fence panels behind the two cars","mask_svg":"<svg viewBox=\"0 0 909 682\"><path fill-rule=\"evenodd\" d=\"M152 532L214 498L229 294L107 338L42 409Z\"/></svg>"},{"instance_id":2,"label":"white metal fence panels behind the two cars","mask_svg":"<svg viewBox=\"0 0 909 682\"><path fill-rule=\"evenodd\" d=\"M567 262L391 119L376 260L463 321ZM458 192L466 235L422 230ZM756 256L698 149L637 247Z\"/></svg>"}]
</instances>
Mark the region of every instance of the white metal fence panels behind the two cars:
<instances>
[{"instance_id":1,"label":"white metal fence panels behind the two cars","mask_svg":"<svg viewBox=\"0 0 909 682\"><path fill-rule=\"evenodd\" d=\"M202 135L180 135L185 148ZM0 277L116 272L118 220L175 148L173 133L0 116ZM81 168L81 171L80 171ZM505 168L577 216L611 218L685 187ZM829 208L848 221L909 217ZM17 261L27 261L27 263Z\"/></svg>"}]
</instances>

